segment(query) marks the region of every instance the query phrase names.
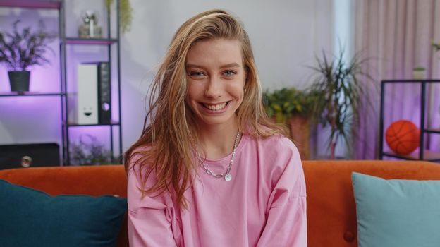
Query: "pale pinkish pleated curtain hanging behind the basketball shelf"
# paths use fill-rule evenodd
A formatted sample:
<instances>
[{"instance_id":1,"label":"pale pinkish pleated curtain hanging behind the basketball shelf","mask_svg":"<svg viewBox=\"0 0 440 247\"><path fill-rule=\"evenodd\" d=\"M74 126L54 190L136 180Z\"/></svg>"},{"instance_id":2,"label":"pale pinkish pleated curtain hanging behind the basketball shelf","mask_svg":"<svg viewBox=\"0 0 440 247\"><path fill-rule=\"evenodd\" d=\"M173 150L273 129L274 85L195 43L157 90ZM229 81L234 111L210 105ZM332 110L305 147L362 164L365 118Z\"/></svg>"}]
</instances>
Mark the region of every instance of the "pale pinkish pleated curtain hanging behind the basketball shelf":
<instances>
[{"instance_id":1,"label":"pale pinkish pleated curtain hanging behind the basketball shelf","mask_svg":"<svg viewBox=\"0 0 440 247\"><path fill-rule=\"evenodd\" d=\"M355 51L368 58L364 70L374 82L365 83L368 92L361 109L361 125L355 141L356 159L379 155L380 81L410 79L412 68L427 69L427 78L439 78L440 52L431 40L440 42L440 3L434 0L358 0L355 2ZM374 84L374 85L373 85ZM430 85L426 123L440 128L440 85ZM420 85L398 83L386 86L384 131L393 122L406 119L420 126ZM427 147L440 151L438 135L429 135ZM384 150L389 150L384 142Z\"/></svg>"}]
</instances>

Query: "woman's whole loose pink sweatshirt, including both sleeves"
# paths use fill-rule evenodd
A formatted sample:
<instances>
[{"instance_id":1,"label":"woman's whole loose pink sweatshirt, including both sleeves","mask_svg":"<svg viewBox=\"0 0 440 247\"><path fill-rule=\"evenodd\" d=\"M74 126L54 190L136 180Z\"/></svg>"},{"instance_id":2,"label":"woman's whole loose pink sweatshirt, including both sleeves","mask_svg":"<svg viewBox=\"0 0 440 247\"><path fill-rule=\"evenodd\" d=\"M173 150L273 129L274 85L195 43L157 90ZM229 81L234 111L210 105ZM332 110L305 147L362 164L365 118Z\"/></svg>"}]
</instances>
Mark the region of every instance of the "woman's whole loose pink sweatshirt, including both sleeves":
<instances>
[{"instance_id":1,"label":"woman's whole loose pink sweatshirt, including both sleeves","mask_svg":"<svg viewBox=\"0 0 440 247\"><path fill-rule=\"evenodd\" d=\"M231 155L205 165L222 174ZM305 180L290 140L243 135L231 181L199 168L200 179L185 192L188 210L178 210L169 194L141 199L138 174L130 169L130 246L307 246ZM150 177L147 186L152 183Z\"/></svg>"}]
</instances>

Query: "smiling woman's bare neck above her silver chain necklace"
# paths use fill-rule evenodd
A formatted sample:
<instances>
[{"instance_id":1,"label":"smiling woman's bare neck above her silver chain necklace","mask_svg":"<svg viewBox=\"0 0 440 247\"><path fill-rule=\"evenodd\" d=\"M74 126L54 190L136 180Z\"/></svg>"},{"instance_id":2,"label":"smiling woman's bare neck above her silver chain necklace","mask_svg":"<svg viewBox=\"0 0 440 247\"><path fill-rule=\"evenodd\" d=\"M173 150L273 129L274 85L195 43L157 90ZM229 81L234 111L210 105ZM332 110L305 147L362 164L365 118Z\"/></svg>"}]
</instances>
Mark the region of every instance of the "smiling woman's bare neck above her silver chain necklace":
<instances>
[{"instance_id":1,"label":"smiling woman's bare neck above her silver chain necklace","mask_svg":"<svg viewBox=\"0 0 440 247\"><path fill-rule=\"evenodd\" d=\"M226 157L233 150L236 141L237 124L201 126L199 131L199 152L209 159Z\"/></svg>"}]
</instances>

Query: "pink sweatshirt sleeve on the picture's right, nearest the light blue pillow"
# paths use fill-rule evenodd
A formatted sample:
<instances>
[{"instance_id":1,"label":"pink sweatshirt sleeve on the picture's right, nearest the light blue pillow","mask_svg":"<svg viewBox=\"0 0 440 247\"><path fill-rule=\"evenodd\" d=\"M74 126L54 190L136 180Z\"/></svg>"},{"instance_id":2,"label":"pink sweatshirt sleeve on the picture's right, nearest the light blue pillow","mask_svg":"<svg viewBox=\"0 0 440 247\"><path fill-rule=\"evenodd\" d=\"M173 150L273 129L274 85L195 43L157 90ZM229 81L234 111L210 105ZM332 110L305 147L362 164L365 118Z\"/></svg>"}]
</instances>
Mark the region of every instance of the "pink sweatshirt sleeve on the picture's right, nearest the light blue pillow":
<instances>
[{"instance_id":1,"label":"pink sweatshirt sleeve on the picture's right, nearest the light blue pillow","mask_svg":"<svg viewBox=\"0 0 440 247\"><path fill-rule=\"evenodd\" d=\"M267 223L257 246L306 247L307 215L304 172L295 145L283 143L288 145L288 150L279 153L279 156L283 157L276 158L276 161L281 164L276 164L274 168L275 180L269 197ZM281 150L286 150L286 147Z\"/></svg>"}]
</instances>

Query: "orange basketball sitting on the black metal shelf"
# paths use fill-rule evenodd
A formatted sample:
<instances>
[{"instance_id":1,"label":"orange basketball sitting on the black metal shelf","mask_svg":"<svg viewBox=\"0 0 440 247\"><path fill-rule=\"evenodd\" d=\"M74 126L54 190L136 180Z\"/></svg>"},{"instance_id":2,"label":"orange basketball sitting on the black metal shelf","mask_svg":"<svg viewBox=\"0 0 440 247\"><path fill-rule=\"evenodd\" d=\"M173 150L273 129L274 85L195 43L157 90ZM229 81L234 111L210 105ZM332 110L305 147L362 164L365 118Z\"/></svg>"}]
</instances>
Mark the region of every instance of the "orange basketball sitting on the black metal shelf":
<instances>
[{"instance_id":1,"label":"orange basketball sitting on the black metal shelf","mask_svg":"<svg viewBox=\"0 0 440 247\"><path fill-rule=\"evenodd\" d=\"M420 130L410 121L395 121L386 129L385 140L396 154L409 155L419 147Z\"/></svg>"}]
</instances>

